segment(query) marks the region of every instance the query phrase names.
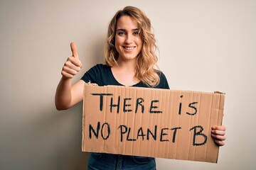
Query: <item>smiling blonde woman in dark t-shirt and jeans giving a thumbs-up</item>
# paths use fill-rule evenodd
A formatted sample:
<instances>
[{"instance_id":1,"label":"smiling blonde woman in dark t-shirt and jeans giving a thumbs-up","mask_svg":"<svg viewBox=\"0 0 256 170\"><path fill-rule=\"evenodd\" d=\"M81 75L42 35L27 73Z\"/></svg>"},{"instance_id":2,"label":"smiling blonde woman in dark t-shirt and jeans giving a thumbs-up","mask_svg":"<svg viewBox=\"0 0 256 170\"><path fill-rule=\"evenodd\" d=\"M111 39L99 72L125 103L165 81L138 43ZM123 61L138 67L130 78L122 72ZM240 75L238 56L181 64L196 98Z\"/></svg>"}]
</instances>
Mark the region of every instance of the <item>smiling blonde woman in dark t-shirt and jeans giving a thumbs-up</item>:
<instances>
[{"instance_id":1,"label":"smiling blonde woman in dark t-shirt and jeans giving a thumbs-up","mask_svg":"<svg viewBox=\"0 0 256 170\"><path fill-rule=\"evenodd\" d=\"M149 18L139 9L127 6L117 11L107 33L106 64L97 64L82 79L71 85L71 79L82 64L75 43L71 43L72 57L68 57L61 72L62 78L55 94L58 110L68 109L82 101L84 82L99 86L139 86L169 89L162 72L155 69L156 40L151 33ZM212 136L217 145L224 145L225 127L213 127ZM88 169L156 169L154 158L117 154L90 154Z\"/></svg>"}]
</instances>

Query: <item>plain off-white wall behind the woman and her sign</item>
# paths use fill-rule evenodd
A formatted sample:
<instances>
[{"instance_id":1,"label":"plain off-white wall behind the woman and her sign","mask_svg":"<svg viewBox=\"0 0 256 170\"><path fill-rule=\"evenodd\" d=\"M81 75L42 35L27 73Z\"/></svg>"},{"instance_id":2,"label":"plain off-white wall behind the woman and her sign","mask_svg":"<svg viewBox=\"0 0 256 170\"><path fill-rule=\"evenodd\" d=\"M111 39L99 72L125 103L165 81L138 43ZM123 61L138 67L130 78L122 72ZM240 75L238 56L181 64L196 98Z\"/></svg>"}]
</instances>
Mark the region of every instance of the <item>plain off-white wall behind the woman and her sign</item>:
<instances>
[{"instance_id":1,"label":"plain off-white wall behind the woman and her sign","mask_svg":"<svg viewBox=\"0 0 256 170\"><path fill-rule=\"evenodd\" d=\"M218 164L156 159L157 169L255 169L256 1L0 1L0 169L86 169L82 103L56 111L75 41L83 69L104 62L107 26L124 6L151 18L171 89L222 91Z\"/></svg>"}]
</instances>

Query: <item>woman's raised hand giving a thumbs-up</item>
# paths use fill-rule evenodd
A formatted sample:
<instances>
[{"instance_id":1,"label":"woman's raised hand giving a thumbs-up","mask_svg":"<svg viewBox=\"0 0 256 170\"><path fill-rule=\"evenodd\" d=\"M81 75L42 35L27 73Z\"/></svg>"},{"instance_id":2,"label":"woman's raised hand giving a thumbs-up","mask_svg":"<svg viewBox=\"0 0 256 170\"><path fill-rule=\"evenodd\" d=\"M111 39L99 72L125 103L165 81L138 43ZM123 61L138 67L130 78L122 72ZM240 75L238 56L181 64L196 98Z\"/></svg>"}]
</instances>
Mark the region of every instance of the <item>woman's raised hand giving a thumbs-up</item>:
<instances>
[{"instance_id":1,"label":"woman's raised hand giving a thumbs-up","mask_svg":"<svg viewBox=\"0 0 256 170\"><path fill-rule=\"evenodd\" d=\"M72 79L82 68L82 62L79 60L78 50L75 42L71 42L70 47L72 51L72 57L68 57L68 60L65 62L61 71L64 79Z\"/></svg>"}]
</instances>

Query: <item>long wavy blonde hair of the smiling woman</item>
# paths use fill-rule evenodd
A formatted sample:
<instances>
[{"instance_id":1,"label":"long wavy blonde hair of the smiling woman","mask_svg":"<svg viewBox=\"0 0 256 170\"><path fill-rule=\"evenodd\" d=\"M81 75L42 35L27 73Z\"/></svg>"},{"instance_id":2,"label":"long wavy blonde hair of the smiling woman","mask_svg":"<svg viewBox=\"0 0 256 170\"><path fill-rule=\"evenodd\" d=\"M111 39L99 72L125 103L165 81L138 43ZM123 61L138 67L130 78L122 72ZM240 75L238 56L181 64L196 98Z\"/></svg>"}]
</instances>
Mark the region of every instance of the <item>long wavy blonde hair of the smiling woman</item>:
<instances>
[{"instance_id":1,"label":"long wavy blonde hair of the smiling woman","mask_svg":"<svg viewBox=\"0 0 256 170\"><path fill-rule=\"evenodd\" d=\"M105 61L110 67L117 64L118 52L114 46L117 21L121 16L130 16L139 25L139 33L142 36L142 51L137 57L137 67L135 77L148 86L154 87L159 84L159 71L156 66L157 50L154 34L151 32L151 22L149 18L139 9L134 6L127 6L123 10L117 11L107 30L107 43L105 46ZM158 68L158 67L157 67Z\"/></svg>"}]
</instances>

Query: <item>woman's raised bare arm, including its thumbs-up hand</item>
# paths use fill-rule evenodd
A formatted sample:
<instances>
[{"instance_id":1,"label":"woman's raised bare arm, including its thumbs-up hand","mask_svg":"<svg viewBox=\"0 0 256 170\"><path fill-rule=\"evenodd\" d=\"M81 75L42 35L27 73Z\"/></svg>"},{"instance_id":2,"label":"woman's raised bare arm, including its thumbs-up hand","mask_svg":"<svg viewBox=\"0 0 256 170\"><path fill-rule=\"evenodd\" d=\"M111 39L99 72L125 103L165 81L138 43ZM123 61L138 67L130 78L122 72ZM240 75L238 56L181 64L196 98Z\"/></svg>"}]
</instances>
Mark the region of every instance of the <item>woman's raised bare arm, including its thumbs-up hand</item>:
<instances>
[{"instance_id":1,"label":"woman's raised bare arm, including its thumbs-up hand","mask_svg":"<svg viewBox=\"0 0 256 170\"><path fill-rule=\"evenodd\" d=\"M62 78L58 84L55 94L55 106L57 110L65 110L82 101L84 81L80 80L71 85L71 79L80 71L82 64L78 57L78 51L74 42L70 44L73 53L72 57L63 66Z\"/></svg>"}]
</instances>

